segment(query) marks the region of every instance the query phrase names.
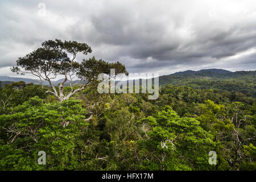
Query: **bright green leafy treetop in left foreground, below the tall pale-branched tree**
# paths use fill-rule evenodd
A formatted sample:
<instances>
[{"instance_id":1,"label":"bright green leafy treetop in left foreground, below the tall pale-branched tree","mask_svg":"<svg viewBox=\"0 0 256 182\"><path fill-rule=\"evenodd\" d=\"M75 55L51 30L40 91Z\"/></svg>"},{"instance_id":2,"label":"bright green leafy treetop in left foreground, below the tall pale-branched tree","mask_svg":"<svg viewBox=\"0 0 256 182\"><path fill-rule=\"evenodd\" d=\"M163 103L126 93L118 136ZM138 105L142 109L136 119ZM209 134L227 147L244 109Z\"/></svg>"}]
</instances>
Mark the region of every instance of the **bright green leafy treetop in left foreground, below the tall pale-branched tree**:
<instances>
[{"instance_id":1,"label":"bright green leafy treetop in left foreground, below the tall pale-branched tree","mask_svg":"<svg viewBox=\"0 0 256 182\"><path fill-rule=\"evenodd\" d=\"M16 106L13 114L0 116L1 125L8 131L10 139L5 143L30 151L26 152L28 155L25 156L34 161L30 166L32 169L76 169L76 140L82 135L81 129L86 130L89 125L84 120L86 110L80 103L81 100L67 100L62 103L44 104L37 96L30 98L22 105ZM24 142L20 142L21 139ZM19 163L18 155L26 154L22 153L23 150L15 150L10 146L7 148L10 154L13 153L13 163L5 162L1 169L5 169L6 165L19 169L15 166ZM48 157L46 166L36 164L37 154L41 150L45 151ZM2 154L4 158L9 158L6 155L9 155L9 152Z\"/></svg>"}]
</instances>

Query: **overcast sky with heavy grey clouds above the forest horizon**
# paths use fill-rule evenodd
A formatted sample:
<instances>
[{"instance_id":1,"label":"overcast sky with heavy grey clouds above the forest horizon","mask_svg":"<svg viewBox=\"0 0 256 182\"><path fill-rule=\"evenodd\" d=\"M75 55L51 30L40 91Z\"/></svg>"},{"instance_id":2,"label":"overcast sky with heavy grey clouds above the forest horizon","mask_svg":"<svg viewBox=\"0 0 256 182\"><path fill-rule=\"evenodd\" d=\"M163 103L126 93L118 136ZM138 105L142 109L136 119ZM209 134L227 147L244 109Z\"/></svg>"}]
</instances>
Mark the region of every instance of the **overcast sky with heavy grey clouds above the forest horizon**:
<instances>
[{"instance_id":1,"label":"overcast sky with heavy grey clouds above the forest horizon","mask_svg":"<svg viewBox=\"0 0 256 182\"><path fill-rule=\"evenodd\" d=\"M0 23L2 76L16 76L18 57L56 38L92 48L77 61L120 61L130 73L256 69L255 0L1 0Z\"/></svg>"}]
</instances>

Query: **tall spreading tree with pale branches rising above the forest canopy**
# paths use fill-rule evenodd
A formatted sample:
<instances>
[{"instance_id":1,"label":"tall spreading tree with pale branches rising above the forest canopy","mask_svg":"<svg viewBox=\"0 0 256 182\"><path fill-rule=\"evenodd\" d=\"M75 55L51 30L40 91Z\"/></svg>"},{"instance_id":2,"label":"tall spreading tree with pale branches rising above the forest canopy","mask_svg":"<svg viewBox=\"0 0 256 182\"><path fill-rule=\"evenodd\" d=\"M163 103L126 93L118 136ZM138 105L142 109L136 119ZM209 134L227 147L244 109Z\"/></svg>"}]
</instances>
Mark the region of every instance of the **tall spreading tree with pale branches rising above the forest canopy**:
<instances>
[{"instance_id":1,"label":"tall spreading tree with pale branches rising above the forest canopy","mask_svg":"<svg viewBox=\"0 0 256 182\"><path fill-rule=\"evenodd\" d=\"M42 43L42 47L24 57L19 57L16 60L16 67L11 68L11 71L21 75L30 73L39 78L42 86L44 81L48 81L52 90L47 90L47 93L52 93L62 102L76 92L84 90L90 82L97 78L98 73L109 73L110 68L115 68L117 70L116 73L127 73L125 66L119 62L106 63L103 60L96 60L94 57L89 60L83 60L81 64L76 61L77 53L87 55L91 52L92 49L85 43L77 43L75 41L62 42L59 39L48 40ZM57 75L64 76L63 81L59 84L59 92L52 84L52 80ZM79 77L80 80L86 80L86 84L73 90L72 79L75 76ZM68 78L70 79L71 92L65 95L63 87Z\"/></svg>"}]
</instances>

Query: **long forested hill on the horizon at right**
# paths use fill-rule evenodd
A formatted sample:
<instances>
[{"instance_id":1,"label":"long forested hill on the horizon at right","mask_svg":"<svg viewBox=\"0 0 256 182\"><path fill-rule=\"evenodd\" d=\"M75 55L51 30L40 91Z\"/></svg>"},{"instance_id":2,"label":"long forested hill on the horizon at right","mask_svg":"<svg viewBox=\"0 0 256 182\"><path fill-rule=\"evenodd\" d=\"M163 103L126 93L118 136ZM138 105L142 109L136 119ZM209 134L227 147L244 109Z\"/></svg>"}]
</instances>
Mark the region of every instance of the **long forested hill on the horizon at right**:
<instances>
[{"instance_id":1,"label":"long forested hill on the horizon at right","mask_svg":"<svg viewBox=\"0 0 256 182\"><path fill-rule=\"evenodd\" d=\"M195 89L227 90L256 97L256 71L230 72L224 69L177 72L159 77L159 85L189 86Z\"/></svg>"}]
</instances>

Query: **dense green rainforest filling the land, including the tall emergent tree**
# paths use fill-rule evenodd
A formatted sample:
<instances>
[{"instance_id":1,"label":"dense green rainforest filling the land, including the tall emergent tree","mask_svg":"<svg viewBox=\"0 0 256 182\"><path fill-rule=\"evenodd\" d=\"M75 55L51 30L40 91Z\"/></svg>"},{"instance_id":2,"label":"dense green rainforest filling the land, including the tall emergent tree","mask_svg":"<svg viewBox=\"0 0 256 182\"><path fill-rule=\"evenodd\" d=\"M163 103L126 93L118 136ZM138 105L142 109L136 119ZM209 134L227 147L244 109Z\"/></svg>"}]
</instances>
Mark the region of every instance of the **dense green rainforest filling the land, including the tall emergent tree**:
<instances>
[{"instance_id":1,"label":"dense green rainforest filling the land, including the tall emergent tree","mask_svg":"<svg viewBox=\"0 0 256 182\"><path fill-rule=\"evenodd\" d=\"M94 57L77 64L64 51L90 48L48 41L17 60L26 71L64 75L59 86L1 86L0 170L256 170L255 72L163 76L158 99L148 100L98 93L95 75L127 73L124 65ZM88 84L65 85L67 72Z\"/></svg>"}]
</instances>

